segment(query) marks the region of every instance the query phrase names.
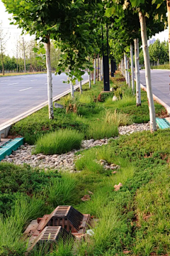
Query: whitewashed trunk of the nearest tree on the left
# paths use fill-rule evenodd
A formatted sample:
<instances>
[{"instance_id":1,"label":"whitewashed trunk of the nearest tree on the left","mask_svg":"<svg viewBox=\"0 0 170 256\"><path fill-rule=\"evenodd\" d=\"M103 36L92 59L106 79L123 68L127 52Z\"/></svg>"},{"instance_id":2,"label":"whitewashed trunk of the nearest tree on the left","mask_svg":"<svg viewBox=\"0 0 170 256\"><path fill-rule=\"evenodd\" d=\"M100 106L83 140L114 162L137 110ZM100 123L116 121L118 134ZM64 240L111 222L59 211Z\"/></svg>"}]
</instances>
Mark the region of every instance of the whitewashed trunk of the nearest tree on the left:
<instances>
[{"instance_id":1,"label":"whitewashed trunk of the nearest tree on the left","mask_svg":"<svg viewBox=\"0 0 170 256\"><path fill-rule=\"evenodd\" d=\"M52 104L52 68L50 60L50 36L47 36L48 42L45 43L46 48L46 66L47 66L47 96L48 96L48 114L49 119L54 119L54 111Z\"/></svg>"}]
</instances>

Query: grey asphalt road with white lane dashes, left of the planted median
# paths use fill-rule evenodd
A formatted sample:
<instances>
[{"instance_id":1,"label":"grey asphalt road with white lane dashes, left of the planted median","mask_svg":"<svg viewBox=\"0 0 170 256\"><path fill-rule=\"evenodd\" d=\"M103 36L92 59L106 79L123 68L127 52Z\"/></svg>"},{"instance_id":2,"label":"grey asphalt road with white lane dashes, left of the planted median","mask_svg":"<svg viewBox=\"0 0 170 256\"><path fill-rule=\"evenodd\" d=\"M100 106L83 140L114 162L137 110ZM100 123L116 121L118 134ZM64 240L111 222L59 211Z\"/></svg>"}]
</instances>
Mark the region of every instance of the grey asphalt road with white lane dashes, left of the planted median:
<instances>
[{"instance_id":1,"label":"grey asphalt road with white lane dashes, left of the planted median","mask_svg":"<svg viewBox=\"0 0 170 256\"><path fill-rule=\"evenodd\" d=\"M88 80L88 74L84 75ZM69 90L67 75L52 74L53 97ZM77 85L79 83L77 82ZM47 100L47 74L16 75L0 78L0 124Z\"/></svg>"}]
</instances>

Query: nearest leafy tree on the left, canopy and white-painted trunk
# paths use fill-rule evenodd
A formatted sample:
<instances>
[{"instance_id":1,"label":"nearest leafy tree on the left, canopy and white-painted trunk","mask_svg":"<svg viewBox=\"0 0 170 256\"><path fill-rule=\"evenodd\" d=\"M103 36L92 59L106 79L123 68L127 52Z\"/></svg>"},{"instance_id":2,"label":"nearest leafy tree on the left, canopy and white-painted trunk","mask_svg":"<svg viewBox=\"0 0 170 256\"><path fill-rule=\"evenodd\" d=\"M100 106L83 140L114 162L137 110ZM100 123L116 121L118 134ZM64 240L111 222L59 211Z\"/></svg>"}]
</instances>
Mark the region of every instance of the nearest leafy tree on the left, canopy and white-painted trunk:
<instances>
[{"instance_id":1,"label":"nearest leafy tree on the left, canopy and white-painted trunk","mask_svg":"<svg viewBox=\"0 0 170 256\"><path fill-rule=\"evenodd\" d=\"M61 20L68 19L65 10L69 9L72 1L68 0L3 0L6 10L13 14L13 24L23 28L30 35L35 35L35 39L41 38L45 42L46 65L47 65L47 88L48 88L48 110L49 118L54 118L52 105L52 68L50 61L50 38L58 38L58 28Z\"/></svg>"}]
</instances>

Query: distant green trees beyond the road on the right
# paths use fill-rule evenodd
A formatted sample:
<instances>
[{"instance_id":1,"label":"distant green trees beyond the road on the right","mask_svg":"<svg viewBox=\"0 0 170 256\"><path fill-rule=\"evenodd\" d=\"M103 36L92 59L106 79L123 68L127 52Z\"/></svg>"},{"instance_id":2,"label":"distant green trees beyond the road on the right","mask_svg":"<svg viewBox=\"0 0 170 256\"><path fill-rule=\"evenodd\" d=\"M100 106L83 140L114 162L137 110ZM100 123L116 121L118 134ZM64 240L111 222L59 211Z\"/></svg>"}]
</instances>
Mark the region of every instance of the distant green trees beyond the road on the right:
<instances>
[{"instance_id":1,"label":"distant green trees beyond the road on the right","mask_svg":"<svg viewBox=\"0 0 170 256\"><path fill-rule=\"evenodd\" d=\"M162 65L169 63L169 43L163 41L162 43L157 39L149 46L149 57L151 65ZM140 50L140 65L144 65L143 50Z\"/></svg>"}]
</instances>

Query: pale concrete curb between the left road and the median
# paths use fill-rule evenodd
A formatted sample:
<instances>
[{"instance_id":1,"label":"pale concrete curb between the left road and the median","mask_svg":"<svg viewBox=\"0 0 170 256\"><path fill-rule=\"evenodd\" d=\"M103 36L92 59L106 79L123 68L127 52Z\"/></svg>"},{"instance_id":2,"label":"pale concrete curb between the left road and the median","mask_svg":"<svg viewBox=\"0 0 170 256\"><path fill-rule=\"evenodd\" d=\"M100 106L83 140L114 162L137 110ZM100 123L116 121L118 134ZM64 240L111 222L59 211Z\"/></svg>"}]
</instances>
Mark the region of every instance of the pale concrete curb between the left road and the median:
<instances>
[{"instance_id":1,"label":"pale concrete curb between the left road and the median","mask_svg":"<svg viewBox=\"0 0 170 256\"><path fill-rule=\"evenodd\" d=\"M82 82L82 85L85 85L87 82L89 82L89 80ZM74 90L77 90L78 88L79 88L79 85L74 86ZM60 95L53 97L52 101L54 102L56 100L60 100L61 97L68 95L70 92L71 92L70 89L65 92L62 92ZM48 105L48 101L45 101L45 102L41 103L40 105L33 107L32 109L30 109L26 112L23 112L23 114L19 114L17 117L14 117L14 118L8 120L7 122L4 122L4 124L1 124L0 125L0 141L1 141L1 138L5 138L8 136L8 131L11 128L12 124L15 124L16 122L20 121L21 119L28 117L30 114L37 112L38 110L42 109L42 107L45 107L47 105Z\"/></svg>"}]
</instances>

